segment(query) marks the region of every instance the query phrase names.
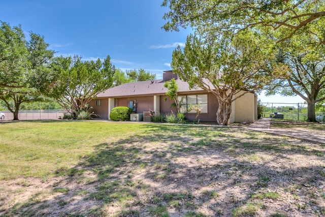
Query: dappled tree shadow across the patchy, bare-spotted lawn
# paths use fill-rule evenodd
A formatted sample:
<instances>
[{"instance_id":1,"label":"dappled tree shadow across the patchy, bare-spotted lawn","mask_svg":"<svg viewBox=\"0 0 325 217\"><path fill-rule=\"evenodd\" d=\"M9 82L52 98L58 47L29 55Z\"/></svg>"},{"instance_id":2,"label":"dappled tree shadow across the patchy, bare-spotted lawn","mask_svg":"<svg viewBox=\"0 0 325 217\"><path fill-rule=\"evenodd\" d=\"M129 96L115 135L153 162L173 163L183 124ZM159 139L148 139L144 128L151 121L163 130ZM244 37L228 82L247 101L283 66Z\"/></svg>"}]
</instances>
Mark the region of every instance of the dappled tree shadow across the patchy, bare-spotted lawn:
<instances>
[{"instance_id":1,"label":"dappled tree shadow across the patchy, bare-spotted lawn","mask_svg":"<svg viewBox=\"0 0 325 217\"><path fill-rule=\"evenodd\" d=\"M141 127L142 133L98 144L78 165L56 171L54 197L18 204L10 212L21 216L325 212L321 146L233 128Z\"/></svg>"}]
</instances>

